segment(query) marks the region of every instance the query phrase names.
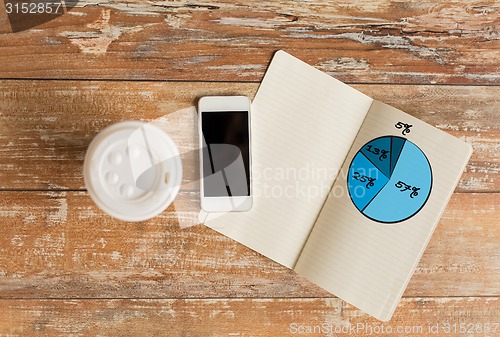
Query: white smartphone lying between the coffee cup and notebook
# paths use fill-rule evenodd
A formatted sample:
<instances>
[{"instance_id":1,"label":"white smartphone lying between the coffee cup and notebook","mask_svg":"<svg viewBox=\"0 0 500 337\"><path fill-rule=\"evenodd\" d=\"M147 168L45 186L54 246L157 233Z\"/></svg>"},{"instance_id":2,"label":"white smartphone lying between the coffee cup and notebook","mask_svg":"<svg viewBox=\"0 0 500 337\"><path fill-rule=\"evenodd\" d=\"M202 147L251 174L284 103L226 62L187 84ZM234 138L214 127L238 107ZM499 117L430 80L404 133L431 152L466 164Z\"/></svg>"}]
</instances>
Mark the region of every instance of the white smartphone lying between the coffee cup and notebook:
<instances>
[{"instance_id":1,"label":"white smartphone lying between the coffee cup and notebook","mask_svg":"<svg viewBox=\"0 0 500 337\"><path fill-rule=\"evenodd\" d=\"M252 207L250 100L205 96L198 101L201 207L206 212Z\"/></svg>"}]
</instances>

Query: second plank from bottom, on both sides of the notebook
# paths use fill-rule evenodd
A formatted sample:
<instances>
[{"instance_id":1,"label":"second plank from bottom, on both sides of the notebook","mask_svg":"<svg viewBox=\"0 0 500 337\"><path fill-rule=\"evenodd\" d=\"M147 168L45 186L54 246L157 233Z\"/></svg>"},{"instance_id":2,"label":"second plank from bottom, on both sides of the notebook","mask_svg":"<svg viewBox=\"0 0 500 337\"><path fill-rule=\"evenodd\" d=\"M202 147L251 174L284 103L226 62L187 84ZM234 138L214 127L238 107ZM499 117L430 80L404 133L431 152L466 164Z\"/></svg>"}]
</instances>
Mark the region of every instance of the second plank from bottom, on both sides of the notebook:
<instances>
[{"instance_id":1,"label":"second plank from bottom, on both sides of the notebook","mask_svg":"<svg viewBox=\"0 0 500 337\"><path fill-rule=\"evenodd\" d=\"M211 229L180 228L196 193L143 223L104 215L85 192L0 197L0 298L329 296ZM453 196L405 296L500 295L498 200Z\"/></svg>"}]
</instances>

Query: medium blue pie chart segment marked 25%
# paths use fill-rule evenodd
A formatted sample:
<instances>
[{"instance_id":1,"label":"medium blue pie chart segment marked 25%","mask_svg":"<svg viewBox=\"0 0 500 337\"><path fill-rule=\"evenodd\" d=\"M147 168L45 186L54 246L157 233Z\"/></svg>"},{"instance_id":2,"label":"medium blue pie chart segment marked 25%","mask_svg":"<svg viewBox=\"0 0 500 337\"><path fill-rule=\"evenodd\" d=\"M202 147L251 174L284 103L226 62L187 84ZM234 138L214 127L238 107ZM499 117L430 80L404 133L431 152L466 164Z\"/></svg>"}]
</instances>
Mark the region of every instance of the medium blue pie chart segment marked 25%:
<instances>
[{"instance_id":1,"label":"medium blue pie chart segment marked 25%","mask_svg":"<svg viewBox=\"0 0 500 337\"><path fill-rule=\"evenodd\" d=\"M363 179L362 177L365 177ZM358 179L356 179L357 177ZM373 186L369 178L374 178ZM362 210L375 195L385 186L389 179L369 161L364 154L358 152L349 168L349 195L357 209ZM361 181L365 180L365 181Z\"/></svg>"}]
</instances>

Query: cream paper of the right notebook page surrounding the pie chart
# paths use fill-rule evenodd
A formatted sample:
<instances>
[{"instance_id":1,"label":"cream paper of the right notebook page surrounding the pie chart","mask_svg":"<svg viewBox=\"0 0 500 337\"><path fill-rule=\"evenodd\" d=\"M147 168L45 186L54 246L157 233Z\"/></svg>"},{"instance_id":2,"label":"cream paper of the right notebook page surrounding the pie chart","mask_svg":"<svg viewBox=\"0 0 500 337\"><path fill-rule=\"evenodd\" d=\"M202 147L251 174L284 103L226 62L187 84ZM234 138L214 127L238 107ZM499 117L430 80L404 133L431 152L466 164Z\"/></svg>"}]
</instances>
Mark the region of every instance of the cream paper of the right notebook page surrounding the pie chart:
<instances>
[{"instance_id":1,"label":"cream paper of the right notebook page surrounding the pie chart","mask_svg":"<svg viewBox=\"0 0 500 337\"><path fill-rule=\"evenodd\" d=\"M427 156L432 168L432 189L427 202L414 216L384 224L370 220L355 208L346 181L349 165L366 143L385 135L402 136L402 130L394 127L399 121L413 125L405 137ZM370 315L389 320L470 153L470 146L461 140L375 101L295 270ZM396 169L397 165L400 162ZM411 175L408 179L411 180ZM408 198L409 192L400 195ZM391 212L392 205L385 206Z\"/></svg>"}]
</instances>

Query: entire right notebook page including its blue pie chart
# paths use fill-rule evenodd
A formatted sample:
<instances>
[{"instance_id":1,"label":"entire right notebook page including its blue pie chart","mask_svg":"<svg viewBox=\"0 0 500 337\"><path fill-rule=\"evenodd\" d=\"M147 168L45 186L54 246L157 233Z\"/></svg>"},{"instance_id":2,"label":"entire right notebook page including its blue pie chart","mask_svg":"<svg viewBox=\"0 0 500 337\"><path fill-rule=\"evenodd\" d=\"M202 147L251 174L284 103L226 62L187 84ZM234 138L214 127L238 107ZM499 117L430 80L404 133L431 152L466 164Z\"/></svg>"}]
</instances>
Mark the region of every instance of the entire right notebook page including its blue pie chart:
<instances>
[{"instance_id":1,"label":"entire right notebook page including its blue pie chart","mask_svg":"<svg viewBox=\"0 0 500 337\"><path fill-rule=\"evenodd\" d=\"M395 128L398 122L413 125L404 137L405 128ZM411 143L391 135L406 138ZM377 152L375 147L384 148L387 139L392 141L387 147L390 149L388 167L381 164L380 151L378 155L373 154ZM367 143L372 146L368 148ZM417 147L427 157L428 164ZM394 154L392 162L391 154ZM368 314L389 320L470 154L471 147L461 140L375 101L295 270ZM360 179L360 172L355 173L361 171L358 167L370 167L371 160L379 170L372 170L367 175L381 179L385 185L377 187L375 181L371 186L375 190L367 192L367 195L372 194L363 200L361 193L349 192L347 180L351 179L351 187L355 186L358 181L353 177ZM431 170L427 171L425 167L429 164ZM390 179L383 174L386 170L389 170ZM363 173L366 172L361 175ZM427 195L429 178L432 181ZM411 198L412 190L406 190L403 183L420 187L418 195ZM360 189L365 190L366 184L369 182L365 180ZM413 202L417 204L410 209ZM405 220L406 217L409 218ZM384 222L388 220L400 221Z\"/></svg>"}]
</instances>

